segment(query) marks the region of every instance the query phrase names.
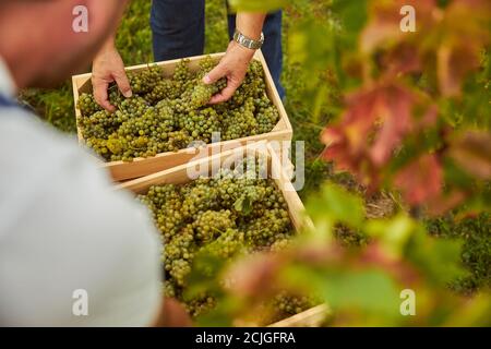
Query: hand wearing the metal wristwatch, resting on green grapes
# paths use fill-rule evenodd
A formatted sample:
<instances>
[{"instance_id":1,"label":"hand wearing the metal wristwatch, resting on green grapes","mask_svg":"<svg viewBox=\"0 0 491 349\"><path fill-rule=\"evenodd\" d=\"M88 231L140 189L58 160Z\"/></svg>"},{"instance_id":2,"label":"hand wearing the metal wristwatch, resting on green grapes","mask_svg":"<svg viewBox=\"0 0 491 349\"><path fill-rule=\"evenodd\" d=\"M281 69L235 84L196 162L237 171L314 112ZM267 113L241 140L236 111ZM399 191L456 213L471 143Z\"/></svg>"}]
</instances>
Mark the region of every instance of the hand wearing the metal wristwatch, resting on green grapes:
<instances>
[{"instance_id":1,"label":"hand wearing the metal wristwatch, resting on green grapes","mask_svg":"<svg viewBox=\"0 0 491 349\"><path fill-rule=\"evenodd\" d=\"M218 65L203 77L205 84L213 84L221 77L227 77L227 87L213 96L209 104L215 105L224 103L233 96L233 93L239 88L246 77L249 63L253 57L254 50L246 48L236 41L231 41L228 45L227 53L220 60Z\"/></svg>"}]
</instances>

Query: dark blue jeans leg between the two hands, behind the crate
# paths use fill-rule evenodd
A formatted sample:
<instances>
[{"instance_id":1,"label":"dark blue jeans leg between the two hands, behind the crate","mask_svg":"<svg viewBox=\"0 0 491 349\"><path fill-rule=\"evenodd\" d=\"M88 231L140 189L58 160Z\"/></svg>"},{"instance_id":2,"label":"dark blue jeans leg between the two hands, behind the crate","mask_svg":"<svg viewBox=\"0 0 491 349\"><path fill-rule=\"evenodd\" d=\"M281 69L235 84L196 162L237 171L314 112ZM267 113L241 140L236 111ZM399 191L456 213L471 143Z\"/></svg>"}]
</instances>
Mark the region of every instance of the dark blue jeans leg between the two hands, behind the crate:
<instances>
[{"instance_id":1,"label":"dark blue jeans leg between the two hands, behind the crate","mask_svg":"<svg viewBox=\"0 0 491 349\"><path fill-rule=\"evenodd\" d=\"M154 58L164 61L203 55L205 0L153 0Z\"/></svg>"}]
</instances>

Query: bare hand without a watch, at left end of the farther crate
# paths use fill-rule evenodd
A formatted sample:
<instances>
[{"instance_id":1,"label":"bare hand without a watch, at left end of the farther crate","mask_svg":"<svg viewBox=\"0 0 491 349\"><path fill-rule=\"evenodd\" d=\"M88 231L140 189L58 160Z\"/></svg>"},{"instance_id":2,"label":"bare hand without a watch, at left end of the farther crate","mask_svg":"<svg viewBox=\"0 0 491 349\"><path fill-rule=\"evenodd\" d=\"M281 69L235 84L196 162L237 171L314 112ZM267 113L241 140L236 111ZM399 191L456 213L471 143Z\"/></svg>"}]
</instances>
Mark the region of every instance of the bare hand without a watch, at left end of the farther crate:
<instances>
[{"instance_id":1,"label":"bare hand without a watch, at left end of the farther crate","mask_svg":"<svg viewBox=\"0 0 491 349\"><path fill-rule=\"evenodd\" d=\"M112 45L106 45L96 57L93 64L92 86L97 104L108 111L116 108L109 101L109 84L116 82L122 95L127 98L132 96L130 82L124 71L124 63L118 50Z\"/></svg>"}]
</instances>

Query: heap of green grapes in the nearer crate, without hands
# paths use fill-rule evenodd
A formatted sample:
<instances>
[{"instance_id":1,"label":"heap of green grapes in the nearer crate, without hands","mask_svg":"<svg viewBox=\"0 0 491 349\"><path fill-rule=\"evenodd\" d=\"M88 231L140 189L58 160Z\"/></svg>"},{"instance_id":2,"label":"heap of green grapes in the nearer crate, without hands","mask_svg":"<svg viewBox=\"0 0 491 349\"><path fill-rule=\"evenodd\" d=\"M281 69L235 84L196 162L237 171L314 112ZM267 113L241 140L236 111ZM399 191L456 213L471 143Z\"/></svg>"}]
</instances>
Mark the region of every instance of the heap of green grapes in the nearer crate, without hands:
<instances>
[{"instance_id":1,"label":"heap of green grapes in the nearer crate, without hands","mask_svg":"<svg viewBox=\"0 0 491 349\"><path fill-rule=\"evenodd\" d=\"M228 261L239 254L277 251L294 237L280 191L273 180L258 177L263 165L250 157L211 178L154 185L139 196L152 210L164 240L165 292L184 302L191 315L215 304L209 294L183 298L199 253Z\"/></svg>"}]
</instances>

